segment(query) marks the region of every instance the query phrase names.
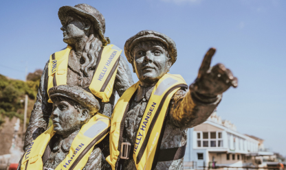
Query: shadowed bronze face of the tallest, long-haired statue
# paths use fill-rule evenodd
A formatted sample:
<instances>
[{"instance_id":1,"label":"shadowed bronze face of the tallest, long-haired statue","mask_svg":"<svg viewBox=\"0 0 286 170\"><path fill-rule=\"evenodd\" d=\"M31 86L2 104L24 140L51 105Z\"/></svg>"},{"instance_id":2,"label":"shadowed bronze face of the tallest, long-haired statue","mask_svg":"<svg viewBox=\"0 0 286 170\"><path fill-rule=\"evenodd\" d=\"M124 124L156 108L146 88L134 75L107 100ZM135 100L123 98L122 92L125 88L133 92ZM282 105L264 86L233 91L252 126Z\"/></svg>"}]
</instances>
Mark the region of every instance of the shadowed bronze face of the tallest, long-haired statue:
<instances>
[{"instance_id":1,"label":"shadowed bronze face of the tallest, long-haired statue","mask_svg":"<svg viewBox=\"0 0 286 170\"><path fill-rule=\"evenodd\" d=\"M74 45L80 38L85 37L85 22L76 14L69 15L65 20L61 21L63 27L63 41L68 45Z\"/></svg>"}]
</instances>

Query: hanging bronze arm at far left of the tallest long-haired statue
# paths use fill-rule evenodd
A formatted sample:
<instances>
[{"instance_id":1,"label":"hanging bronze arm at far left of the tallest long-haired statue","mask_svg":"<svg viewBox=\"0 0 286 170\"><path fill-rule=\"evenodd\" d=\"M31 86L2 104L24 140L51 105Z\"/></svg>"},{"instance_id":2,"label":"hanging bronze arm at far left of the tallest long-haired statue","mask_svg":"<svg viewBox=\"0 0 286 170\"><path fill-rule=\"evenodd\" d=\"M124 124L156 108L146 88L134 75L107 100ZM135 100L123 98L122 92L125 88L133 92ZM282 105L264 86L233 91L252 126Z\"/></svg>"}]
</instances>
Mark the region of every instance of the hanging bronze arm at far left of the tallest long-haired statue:
<instances>
[{"instance_id":1,"label":"hanging bronze arm at far left of the tallest long-haired statue","mask_svg":"<svg viewBox=\"0 0 286 170\"><path fill-rule=\"evenodd\" d=\"M43 70L38 94L36 95L36 103L34 104L29 125L25 133L24 151L26 151L36 137L45 132L49 123L50 114L52 113L52 104L47 103L49 99L47 95L48 64L49 61Z\"/></svg>"}]
</instances>

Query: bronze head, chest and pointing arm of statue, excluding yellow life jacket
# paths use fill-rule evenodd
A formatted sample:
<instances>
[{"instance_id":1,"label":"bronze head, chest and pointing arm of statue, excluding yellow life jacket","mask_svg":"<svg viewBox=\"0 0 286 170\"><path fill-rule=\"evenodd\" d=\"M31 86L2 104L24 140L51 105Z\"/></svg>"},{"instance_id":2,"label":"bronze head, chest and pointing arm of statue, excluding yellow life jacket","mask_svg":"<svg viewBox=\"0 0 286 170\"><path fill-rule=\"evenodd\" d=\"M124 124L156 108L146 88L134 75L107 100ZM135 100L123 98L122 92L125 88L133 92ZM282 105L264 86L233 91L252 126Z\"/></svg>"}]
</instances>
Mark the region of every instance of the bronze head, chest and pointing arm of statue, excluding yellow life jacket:
<instances>
[{"instance_id":1,"label":"bronze head, chest and pointing arm of statue, excluding yellow life jacket","mask_svg":"<svg viewBox=\"0 0 286 170\"><path fill-rule=\"evenodd\" d=\"M154 85L168 72L177 59L175 42L168 36L154 31L142 31L126 41L126 58L140 80L135 99L127 112L123 141L135 143L137 130L150 99ZM160 149L181 147L186 144L187 128L206 121L221 101L222 93L230 86L237 86L237 79L223 64L210 66L215 49L210 49L199 69L197 79L190 89L178 90L168 109L166 128ZM134 160L124 160L122 169L136 169ZM183 158L157 162L155 169L184 169Z\"/></svg>"}]
</instances>

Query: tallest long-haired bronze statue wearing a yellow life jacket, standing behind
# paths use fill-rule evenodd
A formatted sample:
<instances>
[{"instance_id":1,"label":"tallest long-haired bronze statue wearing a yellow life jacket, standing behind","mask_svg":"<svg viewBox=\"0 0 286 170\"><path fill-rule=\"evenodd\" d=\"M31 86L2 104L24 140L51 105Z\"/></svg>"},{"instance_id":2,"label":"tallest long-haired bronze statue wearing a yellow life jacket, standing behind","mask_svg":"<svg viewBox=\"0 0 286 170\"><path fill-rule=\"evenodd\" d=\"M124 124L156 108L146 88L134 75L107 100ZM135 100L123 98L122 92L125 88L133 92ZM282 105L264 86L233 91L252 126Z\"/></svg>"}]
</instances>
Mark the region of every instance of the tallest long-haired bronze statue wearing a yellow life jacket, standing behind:
<instances>
[{"instance_id":1,"label":"tallest long-haired bronze statue wearing a yellow life jacket, standing behind","mask_svg":"<svg viewBox=\"0 0 286 170\"><path fill-rule=\"evenodd\" d=\"M53 53L45 65L36 103L25 134L24 150L43 133L52 113L48 89L61 84L79 86L93 93L99 112L111 117L115 91L122 95L133 84L129 66L120 56L122 50L108 45L104 36L105 20L87 4L63 6L58 10L67 48Z\"/></svg>"}]
</instances>

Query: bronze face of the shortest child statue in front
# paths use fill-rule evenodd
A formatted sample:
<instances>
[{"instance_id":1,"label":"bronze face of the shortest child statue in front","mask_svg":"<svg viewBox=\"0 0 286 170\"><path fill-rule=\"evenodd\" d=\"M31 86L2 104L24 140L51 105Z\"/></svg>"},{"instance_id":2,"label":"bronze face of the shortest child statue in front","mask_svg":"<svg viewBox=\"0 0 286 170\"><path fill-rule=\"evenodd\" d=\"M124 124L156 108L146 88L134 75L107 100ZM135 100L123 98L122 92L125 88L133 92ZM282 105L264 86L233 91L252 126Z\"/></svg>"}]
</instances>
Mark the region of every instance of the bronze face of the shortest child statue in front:
<instances>
[{"instance_id":1,"label":"bronze face of the shortest child statue in front","mask_svg":"<svg viewBox=\"0 0 286 170\"><path fill-rule=\"evenodd\" d=\"M68 135L80 129L81 112L78 112L67 101L56 101L53 104L52 121L57 134Z\"/></svg>"}]
</instances>

